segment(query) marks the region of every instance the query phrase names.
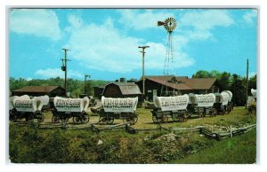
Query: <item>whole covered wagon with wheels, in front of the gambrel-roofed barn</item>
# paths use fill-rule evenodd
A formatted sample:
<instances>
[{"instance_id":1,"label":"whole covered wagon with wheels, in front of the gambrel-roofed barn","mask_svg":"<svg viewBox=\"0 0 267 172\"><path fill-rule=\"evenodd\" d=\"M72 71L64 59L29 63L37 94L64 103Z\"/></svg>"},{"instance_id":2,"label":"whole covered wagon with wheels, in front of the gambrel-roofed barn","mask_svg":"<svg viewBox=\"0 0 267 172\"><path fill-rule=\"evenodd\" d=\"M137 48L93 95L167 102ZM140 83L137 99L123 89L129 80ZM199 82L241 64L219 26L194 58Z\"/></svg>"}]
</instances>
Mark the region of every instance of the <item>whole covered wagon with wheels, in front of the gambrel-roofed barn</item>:
<instances>
[{"instance_id":1,"label":"whole covered wagon with wheels, in front of the gambrel-roofed barn","mask_svg":"<svg viewBox=\"0 0 267 172\"><path fill-rule=\"evenodd\" d=\"M136 98L105 98L101 97L101 108L97 110L99 113L99 123L113 123L114 119L122 119L123 121L135 124L138 121L138 114L135 113L138 103Z\"/></svg>"}]
</instances>

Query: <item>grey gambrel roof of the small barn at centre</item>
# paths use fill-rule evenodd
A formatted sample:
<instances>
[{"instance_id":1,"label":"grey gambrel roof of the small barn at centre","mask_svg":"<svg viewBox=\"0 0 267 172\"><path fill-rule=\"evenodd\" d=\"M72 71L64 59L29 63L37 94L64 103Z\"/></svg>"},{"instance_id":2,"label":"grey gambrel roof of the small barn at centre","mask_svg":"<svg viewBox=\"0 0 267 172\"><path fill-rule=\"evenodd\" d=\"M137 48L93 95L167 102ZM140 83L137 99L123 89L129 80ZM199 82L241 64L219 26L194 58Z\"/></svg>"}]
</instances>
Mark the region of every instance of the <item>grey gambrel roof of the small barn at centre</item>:
<instances>
[{"instance_id":1,"label":"grey gambrel roof of the small barn at centre","mask_svg":"<svg viewBox=\"0 0 267 172\"><path fill-rule=\"evenodd\" d=\"M135 94L142 94L141 90L139 89L138 85L133 82L112 82L110 84L115 84L118 86L119 90L123 95L135 95ZM106 87L108 86L106 85Z\"/></svg>"}]
</instances>

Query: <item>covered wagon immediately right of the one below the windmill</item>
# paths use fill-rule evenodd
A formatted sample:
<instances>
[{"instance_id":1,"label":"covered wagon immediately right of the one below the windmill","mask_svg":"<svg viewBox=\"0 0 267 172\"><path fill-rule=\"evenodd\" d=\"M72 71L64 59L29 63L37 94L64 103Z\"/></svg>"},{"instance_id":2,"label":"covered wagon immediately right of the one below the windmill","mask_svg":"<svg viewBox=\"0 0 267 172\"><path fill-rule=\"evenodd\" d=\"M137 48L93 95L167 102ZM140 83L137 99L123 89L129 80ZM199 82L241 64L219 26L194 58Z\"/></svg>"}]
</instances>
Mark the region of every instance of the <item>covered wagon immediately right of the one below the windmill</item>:
<instances>
[{"instance_id":1,"label":"covered wagon immediately right of the one below the windmill","mask_svg":"<svg viewBox=\"0 0 267 172\"><path fill-rule=\"evenodd\" d=\"M217 114L214 108L215 96L209 94L189 94L190 103L187 108L190 114L198 114L199 117L204 117L206 114L214 116Z\"/></svg>"}]
</instances>

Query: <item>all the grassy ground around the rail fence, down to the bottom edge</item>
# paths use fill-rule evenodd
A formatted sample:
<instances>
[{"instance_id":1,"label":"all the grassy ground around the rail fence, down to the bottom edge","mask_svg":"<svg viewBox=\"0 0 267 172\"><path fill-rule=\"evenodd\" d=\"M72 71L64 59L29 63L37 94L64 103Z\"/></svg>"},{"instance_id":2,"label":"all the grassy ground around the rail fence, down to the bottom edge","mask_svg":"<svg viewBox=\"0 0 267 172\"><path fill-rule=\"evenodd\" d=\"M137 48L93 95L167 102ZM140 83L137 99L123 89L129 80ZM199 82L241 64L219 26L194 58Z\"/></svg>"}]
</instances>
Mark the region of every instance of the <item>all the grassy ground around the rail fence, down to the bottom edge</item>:
<instances>
[{"instance_id":1,"label":"all the grassy ground around the rail fence, down to the bottom edge","mask_svg":"<svg viewBox=\"0 0 267 172\"><path fill-rule=\"evenodd\" d=\"M139 120L134 129L155 129L150 109L138 108ZM92 114L92 113L91 113ZM165 131L137 132L125 130L102 131L99 134L86 130L91 124L98 128L107 125L97 123L99 116L91 115L86 124L73 124L69 119L68 129L61 129L51 121L52 113L44 113L44 122L32 129L24 122L10 123L10 157L20 163L255 163L256 133L216 141L199 133L176 133L175 139L166 141ZM255 124L256 117L244 107L215 117L161 124L165 128L196 127L202 125L244 126ZM121 123L115 120L113 124ZM50 126L50 128L46 128ZM51 128L52 127L52 128ZM56 138L56 139L55 139ZM101 145L98 143L102 142Z\"/></svg>"}]
</instances>

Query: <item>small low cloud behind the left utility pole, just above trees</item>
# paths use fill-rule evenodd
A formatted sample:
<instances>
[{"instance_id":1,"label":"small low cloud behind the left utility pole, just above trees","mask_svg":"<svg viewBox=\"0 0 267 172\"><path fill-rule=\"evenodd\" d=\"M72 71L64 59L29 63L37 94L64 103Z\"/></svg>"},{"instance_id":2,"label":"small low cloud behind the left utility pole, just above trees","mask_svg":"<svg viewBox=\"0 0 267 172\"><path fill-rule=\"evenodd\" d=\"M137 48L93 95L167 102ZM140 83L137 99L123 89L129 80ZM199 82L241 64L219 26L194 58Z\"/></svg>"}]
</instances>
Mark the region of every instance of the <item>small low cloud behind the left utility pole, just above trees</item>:
<instances>
[{"instance_id":1,"label":"small low cloud behind the left utility pole, just above trees","mask_svg":"<svg viewBox=\"0 0 267 172\"><path fill-rule=\"evenodd\" d=\"M36 71L35 73L36 75L40 75L40 76L43 76L44 78L55 78L55 77L61 77L61 78L64 78L65 75L64 75L64 72L61 71L60 68L46 68L46 69L39 69ZM81 74L80 72L78 71L74 71L74 70L68 70L68 75L67 75L68 78L71 78L71 77L78 77L78 78L83 78L84 75Z\"/></svg>"}]
</instances>

